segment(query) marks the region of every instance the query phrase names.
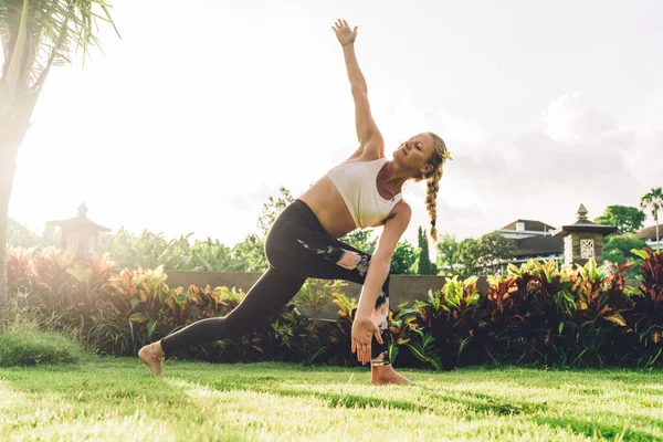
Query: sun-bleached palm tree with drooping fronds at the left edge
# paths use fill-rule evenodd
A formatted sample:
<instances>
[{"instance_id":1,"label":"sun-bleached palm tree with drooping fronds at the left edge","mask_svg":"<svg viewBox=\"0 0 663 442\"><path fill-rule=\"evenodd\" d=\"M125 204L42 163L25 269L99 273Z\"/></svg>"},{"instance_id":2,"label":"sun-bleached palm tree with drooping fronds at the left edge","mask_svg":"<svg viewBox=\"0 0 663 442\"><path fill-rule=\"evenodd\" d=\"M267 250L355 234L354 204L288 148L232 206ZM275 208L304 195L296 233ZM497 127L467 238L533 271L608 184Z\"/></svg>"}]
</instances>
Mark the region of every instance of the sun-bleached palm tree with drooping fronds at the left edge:
<instances>
[{"instance_id":1,"label":"sun-bleached palm tree with drooping fronds at the left edge","mask_svg":"<svg viewBox=\"0 0 663 442\"><path fill-rule=\"evenodd\" d=\"M51 67L71 63L77 49L85 63L88 48L99 43L97 20L115 29L108 8L103 0L0 0L0 323L8 305L7 225L19 147Z\"/></svg>"}]
</instances>

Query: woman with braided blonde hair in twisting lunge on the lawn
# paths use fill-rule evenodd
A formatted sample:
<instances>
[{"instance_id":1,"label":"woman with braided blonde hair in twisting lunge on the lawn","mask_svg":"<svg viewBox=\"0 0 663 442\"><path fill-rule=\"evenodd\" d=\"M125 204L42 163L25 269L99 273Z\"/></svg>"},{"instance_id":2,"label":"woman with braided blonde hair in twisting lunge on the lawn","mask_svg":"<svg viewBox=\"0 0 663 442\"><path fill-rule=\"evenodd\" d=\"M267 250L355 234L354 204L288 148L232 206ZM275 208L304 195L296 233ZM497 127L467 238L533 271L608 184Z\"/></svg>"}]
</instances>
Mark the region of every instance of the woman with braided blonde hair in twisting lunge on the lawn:
<instances>
[{"instance_id":1,"label":"woman with braided blonde hair in twisting lunge on the lawn","mask_svg":"<svg viewBox=\"0 0 663 442\"><path fill-rule=\"evenodd\" d=\"M225 317L199 320L140 349L138 357L152 373L162 373L166 355L192 345L238 338L278 315L306 278L346 280L362 284L352 323L351 351L370 362L371 382L408 383L389 364L389 265L410 222L410 206L402 199L406 181L425 179L431 236L436 241L436 194L442 165L449 152L432 133L402 143L389 161L382 136L372 119L368 91L355 55L357 28L337 21L333 27L345 56L352 97L358 149L327 171L290 204L274 222L265 241L269 270ZM358 228L383 225L375 254L338 241Z\"/></svg>"}]
</instances>

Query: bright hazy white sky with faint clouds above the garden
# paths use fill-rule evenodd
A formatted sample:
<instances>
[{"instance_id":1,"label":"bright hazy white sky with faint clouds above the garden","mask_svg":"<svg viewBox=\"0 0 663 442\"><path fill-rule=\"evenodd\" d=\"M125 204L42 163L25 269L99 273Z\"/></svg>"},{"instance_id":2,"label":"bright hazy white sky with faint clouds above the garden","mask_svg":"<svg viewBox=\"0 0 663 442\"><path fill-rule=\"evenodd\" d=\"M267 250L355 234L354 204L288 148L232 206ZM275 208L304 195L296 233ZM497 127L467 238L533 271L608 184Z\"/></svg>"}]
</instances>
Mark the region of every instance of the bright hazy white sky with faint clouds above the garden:
<instances>
[{"instance_id":1,"label":"bright hazy white sky with faint clouds above the garden","mask_svg":"<svg viewBox=\"0 0 663 442\"><path fill-rule=\"evenodd\" d=\"M454 158L440 234L560 227L663 186L660 1L110 3L122 39L99 23L103 52L52 71L21 147L9 214L34 231L85 202L114 231L255 232L281 186L297 197L357 148L338 18L387 157L432 130ZM403 192L414 243L424 193Z\"/></svg>"}]
</instances>

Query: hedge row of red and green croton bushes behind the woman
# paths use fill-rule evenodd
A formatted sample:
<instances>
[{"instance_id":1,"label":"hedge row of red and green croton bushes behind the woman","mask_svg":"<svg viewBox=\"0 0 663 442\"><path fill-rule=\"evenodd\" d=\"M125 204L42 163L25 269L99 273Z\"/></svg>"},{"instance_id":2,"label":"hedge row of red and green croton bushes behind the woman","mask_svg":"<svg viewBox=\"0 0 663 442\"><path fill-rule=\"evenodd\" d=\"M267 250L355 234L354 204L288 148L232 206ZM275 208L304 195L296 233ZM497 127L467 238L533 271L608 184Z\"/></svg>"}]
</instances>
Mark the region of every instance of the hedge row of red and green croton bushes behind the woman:
<instances>
[{"instance_id":1,"label":"hedge row of red and green croton bushes behind the woman","mask_svg":"<svg viewBox=\"0 0 663 442\"><path fill-rule=\"evenodd\" d=\"M663 366L663 254L633 251L642 262L559 266L530 261L490 276L448 278L440 291L392 305L389 349L401 367L452 369L469 365L535 367ZM169 287L162 266L115 270L107 255L78 262L55 249L12 249L12 304L50 330L75 332L102 355L135 356L196 320L224 316L245 294L229 287ZM179 351L177 357L236 362L282 360L356 365L349 352L357 308L340 281L308 280L278 317L236 340ZM319 319L328 303L336 320Z\"/></svg>"}]
</instances>

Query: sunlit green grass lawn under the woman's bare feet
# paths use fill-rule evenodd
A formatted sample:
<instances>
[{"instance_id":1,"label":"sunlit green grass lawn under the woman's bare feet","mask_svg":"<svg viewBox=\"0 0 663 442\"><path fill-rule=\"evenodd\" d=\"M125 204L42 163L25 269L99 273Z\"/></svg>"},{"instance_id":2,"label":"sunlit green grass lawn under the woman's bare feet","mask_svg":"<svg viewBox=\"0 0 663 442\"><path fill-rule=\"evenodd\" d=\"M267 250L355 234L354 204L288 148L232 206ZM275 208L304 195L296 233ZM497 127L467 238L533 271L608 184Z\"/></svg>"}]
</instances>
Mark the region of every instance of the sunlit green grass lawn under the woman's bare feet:
<instances>
[{"instance_id":1,"label":"sunlit green grass lawn under the woman's bare feet","mask_svg":"<svg viewBox=\"0 0 663 442\"><path fill-rule=\"evenodd\" d=\"M138 359L0 369L0 440L663 440L663 371L403 370Z\"/></svg>"}]
</instances>

